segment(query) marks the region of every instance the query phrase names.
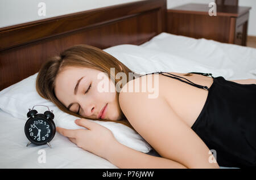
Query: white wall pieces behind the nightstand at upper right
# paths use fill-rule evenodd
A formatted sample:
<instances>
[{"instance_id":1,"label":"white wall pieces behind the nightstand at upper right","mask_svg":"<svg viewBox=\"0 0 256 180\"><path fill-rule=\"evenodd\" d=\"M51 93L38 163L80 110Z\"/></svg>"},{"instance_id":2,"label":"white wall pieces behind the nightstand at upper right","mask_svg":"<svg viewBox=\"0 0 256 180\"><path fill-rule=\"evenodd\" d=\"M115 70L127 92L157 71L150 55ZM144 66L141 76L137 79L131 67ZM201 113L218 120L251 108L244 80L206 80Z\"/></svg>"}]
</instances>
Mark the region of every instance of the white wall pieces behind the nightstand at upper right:
<instances>
[{"instance_id":1,"label":"white wall pieces behind the nightstand at upper right","mask_svg":"<svg viewBox=\"0 0 256 180\"><path fill-rule=\"evenodd\" d=\"M214 0L167 0L167 8L181 6L186 3L204 3L209 4ZM239 6L251 7L248 23L248 35L256 36L256 1L255 0L238 0Z\"/></svg>"}]
</instances>

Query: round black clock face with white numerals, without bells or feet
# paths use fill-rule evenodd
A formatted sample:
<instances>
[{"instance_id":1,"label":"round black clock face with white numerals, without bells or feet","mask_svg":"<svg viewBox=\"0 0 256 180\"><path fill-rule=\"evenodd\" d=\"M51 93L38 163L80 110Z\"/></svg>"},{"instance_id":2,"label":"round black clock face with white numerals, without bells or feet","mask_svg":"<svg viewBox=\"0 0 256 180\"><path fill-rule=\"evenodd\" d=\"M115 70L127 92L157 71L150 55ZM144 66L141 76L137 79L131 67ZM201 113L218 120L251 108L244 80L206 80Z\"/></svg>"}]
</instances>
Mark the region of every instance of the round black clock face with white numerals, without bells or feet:
<instances>
[{"instance_id":1,"label":"round black clock face with white numerals, without bells or feet","mask_svg":"<svg viewBox=\"0 0 256 180\"><path fill-rule=\"evenodd\" d=\"M31 118L25 125L25 134L31 143L46 144L55 135L55 125L44 118Z\"/></svg>"}]
</instances>

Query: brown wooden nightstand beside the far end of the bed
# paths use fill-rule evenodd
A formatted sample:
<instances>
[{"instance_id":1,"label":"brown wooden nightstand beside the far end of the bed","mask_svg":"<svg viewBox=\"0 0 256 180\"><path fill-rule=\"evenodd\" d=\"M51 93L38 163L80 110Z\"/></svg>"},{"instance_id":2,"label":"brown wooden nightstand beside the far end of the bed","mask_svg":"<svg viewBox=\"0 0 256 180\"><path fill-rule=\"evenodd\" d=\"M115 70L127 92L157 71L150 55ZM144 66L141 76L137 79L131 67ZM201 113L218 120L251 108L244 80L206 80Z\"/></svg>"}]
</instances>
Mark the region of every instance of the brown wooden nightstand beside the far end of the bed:
<instances>
[{"instance_id":1,"label":"brown wooden nightstand beside the far end of the bed","mask_svg":"<svg viewBox=\"0 0 256 180\"><path fill-rule=\"evenodd\" d=\"M217 16L208 14L211 7L190 3L167 10L167 32L194 38L246 46L251 7L217 6Z\"/></svg>"}]
</instances>

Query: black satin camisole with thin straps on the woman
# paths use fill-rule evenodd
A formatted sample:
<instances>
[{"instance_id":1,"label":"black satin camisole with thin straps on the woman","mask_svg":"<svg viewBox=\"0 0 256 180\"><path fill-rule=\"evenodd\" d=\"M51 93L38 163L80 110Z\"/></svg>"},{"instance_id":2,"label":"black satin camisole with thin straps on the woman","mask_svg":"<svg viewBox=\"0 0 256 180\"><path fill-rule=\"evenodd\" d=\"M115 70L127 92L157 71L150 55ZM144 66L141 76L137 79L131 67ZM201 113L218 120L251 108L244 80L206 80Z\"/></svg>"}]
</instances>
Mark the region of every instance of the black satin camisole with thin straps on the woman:
<instances>
[{"instance_id":1,"label":"black satin camisole with thin straps on the woman","mask_svg":"<svg viewBox=\"0 0 256 180\"><path fill-rule=\"evenodd\" d=\"M156 72L150 74L153 73ZM189 73L212 76L210 73ZM239 84L222 76L212 76L213 83L208 88L168 72L159 74L208 91L203 109L191 128L210 150L216 152L214 157L219 166L256 168L256 84ZM152 151L148 154L160 156L154 149Z\"/></svg>"}]
</instances>

